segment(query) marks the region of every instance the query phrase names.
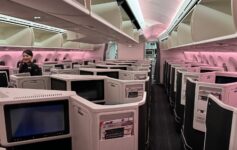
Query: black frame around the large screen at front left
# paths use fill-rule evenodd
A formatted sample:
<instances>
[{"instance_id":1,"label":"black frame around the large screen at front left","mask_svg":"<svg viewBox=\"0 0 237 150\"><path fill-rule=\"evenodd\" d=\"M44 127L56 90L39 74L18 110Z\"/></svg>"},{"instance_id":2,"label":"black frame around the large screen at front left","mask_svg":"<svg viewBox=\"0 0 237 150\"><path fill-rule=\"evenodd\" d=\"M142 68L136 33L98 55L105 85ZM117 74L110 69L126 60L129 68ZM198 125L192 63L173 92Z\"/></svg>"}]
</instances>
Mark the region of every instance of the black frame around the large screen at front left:
<instances>
[{"instance_id":1,"label":"black frame around the large screen at front left","mask_svg":"<svg viewBox=\"0 0 237 150\"><path fill-rule=\"evenodd\" d=\"M50 105L63 105L64 109L64 130L56 131L56 132L49 132L49 133L42 133L42 134L35 134L35 135L27 135L22 137L14 137L12 133L12 122L10 118L10 111L18 108L30 108L30 107L37 107L37 106L50 106ZM17 141L25 141L25 140L32 140L38 138L46 138L52 136L59 136L69 134L69 102L68 100L57 100L57 101L48 101L48 102L37 102L37 103L21 103L21 104L9 104L4 105L4 116L5 116L5 125L6 125L6 134L7 134L7 141L8 142L17 142Z\"/></svg>"}]
</instances>

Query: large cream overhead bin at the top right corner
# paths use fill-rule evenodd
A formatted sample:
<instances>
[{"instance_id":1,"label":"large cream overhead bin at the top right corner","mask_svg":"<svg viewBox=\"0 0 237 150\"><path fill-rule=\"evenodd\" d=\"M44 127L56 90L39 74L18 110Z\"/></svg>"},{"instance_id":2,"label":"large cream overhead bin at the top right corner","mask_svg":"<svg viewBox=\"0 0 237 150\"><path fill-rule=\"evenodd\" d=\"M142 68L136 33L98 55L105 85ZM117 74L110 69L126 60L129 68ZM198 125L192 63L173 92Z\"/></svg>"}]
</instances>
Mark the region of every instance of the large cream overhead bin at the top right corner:
<instances>
[{"instance_id":1,"label":"large cream overhead bin at the top right corner","mask_svg":"<svg viewBox=\"0 0 237 150\"><path fill-rule=\"evenodd\" d=\"M194 8L191 18L194 42L234 33L236 29L231 12L231 0L204 0Z\"/></svg>"}]
</instances>

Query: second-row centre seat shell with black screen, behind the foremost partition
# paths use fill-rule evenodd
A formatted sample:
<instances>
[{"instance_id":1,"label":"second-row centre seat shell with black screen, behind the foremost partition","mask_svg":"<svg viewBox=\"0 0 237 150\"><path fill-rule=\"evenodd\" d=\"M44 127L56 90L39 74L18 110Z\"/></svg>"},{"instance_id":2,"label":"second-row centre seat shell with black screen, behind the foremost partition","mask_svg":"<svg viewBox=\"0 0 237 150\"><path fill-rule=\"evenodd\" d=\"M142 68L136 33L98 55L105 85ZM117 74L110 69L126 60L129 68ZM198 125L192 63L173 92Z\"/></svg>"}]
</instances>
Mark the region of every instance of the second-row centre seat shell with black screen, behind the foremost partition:
<instances>
[{"instance_id":1,"label":"second-row centre seat shell with black screen, behind the foremost partition","mask_svg":"<svg viewBox=\"0 0 237 150\"><path fill-rule=\"evenodd\" d=\"M149 81L149 78L146 80ZM85 99L93 97L94 102L113 105L140 101L145 91L146 80L118 80L106 76L54 74L51 75L51 87L55 90L73 90L79 96L81 94L86 96ZM98 83L99 81L102 83ZM104 96L99 96L101 94Z\"/></svg>"}]
</instances>

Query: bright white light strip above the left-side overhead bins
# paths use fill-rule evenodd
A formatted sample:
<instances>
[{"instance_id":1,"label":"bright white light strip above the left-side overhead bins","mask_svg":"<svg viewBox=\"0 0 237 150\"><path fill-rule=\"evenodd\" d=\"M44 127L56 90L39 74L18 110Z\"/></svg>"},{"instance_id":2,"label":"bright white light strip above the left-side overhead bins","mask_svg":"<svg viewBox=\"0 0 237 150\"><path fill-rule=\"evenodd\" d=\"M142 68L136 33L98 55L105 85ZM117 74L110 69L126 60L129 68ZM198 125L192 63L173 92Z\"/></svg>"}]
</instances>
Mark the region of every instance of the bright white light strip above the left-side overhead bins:
<instances>
[{"instance_id":1,"label":"bright white light strip above the left-side overhead bins","mask_svg":"<svg viewBox=\"0 0 237 150\"><path fill-rule=\"evenodd\" d=\"M34 19L35 20L41 19L41 17L35 16ZM25 26L34 27L34 28L43 29L43 30L52 31L52 32L64 33L66 31L61 28L56 28L56 27L52 27L52 26L48 26L48 25L44 25L44 24L40 24L40 23L36 23L32 21L20 19L20 18L15 18L15 17L3 15L3 14L0 14L0 21L6 22L6 23L13 23L16 25L25 25Z\"/></svg>"}]
</instances>

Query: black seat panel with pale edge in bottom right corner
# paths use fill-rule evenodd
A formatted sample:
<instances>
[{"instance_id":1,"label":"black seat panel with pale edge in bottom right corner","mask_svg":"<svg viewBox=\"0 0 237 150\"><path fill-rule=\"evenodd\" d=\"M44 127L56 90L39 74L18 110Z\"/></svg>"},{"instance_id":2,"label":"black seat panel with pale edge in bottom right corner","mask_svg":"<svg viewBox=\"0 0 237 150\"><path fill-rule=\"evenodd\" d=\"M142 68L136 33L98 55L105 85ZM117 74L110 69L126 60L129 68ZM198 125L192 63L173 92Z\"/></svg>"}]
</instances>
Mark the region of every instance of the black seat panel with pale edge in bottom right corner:
<instances>
[{"instance_id":1,"label":"black seat panel with pale edge in bottom right corner","mask_svg":"<svg viewBox=\"0 0 237 150\"><path fill-rule=\"evenodd\" d=\"M214 95L208 95L204 150L235 150L236 120L236 106L226 105Z\"/></svg>"}]
</instances>

